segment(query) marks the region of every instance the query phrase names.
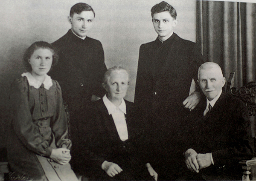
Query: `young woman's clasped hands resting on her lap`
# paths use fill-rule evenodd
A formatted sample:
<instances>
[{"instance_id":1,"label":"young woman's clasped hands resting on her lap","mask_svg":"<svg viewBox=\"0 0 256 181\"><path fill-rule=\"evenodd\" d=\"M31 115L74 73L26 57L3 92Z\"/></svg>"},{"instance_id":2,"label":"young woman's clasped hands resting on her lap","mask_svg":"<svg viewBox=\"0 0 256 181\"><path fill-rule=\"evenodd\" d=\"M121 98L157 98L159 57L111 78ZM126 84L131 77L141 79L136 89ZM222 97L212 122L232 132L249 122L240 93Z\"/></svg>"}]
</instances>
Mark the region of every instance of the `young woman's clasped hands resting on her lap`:
<instances>
[{"instance_id":1,"label":"young woman's clasped hands resting on her lap","mask_svg":"<svg viewBox=\"0 0 256 181\"><path fill-rule=\"evenodd\" d=\"M50 158L58 164L65 165L71 160L70 150L67 148L52 149Z\"/></svg>"}]
</instances>

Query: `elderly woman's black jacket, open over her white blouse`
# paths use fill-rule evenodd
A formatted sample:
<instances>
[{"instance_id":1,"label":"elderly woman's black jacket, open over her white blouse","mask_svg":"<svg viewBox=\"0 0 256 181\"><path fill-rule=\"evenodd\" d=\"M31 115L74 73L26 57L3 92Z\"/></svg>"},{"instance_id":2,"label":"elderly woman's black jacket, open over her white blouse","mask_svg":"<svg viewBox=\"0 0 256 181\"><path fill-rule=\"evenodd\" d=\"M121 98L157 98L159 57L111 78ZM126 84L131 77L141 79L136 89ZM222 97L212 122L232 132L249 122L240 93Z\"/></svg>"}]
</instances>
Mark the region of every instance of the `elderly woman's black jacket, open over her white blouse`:
<instances>
[{"instance_id":1,"label":"elderly woman's black jacket, open over her white blouse","mask_svg":"<svg viewBox=\"0 0 256 181\"><path fill-rule=\"evenodd\" d=\"M84 162L90 163L91 179L109 180L101 165L106 161L118 164L123 171L113 177L117 180L152 179L145 164L148 150L143 149L143 125L136 119L137 110L133 103L125 101L128 140L121 141L112 115L102 99L92 103L90 119L80 124L81 170ZM88 113L87 113L88 114ZM87 150L87 152L83 152ZM81 173L83 174L83 173Z\"/></svg>"}]
</instances>

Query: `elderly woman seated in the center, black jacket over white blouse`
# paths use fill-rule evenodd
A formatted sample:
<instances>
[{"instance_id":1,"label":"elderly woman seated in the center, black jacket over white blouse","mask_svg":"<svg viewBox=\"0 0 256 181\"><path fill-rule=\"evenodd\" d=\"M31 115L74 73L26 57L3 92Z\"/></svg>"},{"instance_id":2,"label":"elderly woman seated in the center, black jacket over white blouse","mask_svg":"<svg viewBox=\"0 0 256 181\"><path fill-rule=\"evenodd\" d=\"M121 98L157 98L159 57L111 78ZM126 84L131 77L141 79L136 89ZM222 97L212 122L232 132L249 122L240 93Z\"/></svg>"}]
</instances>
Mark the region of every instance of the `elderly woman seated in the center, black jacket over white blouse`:
<instances>
[{"instance_id":1,"label":"elderly woman seated in the center, black jacket over white blouse","mask_svg":"<svg viewBox=\"0 0 256 181\"><path fill-rule=\"evenodd\" d=\"M90 180L157 180L157 173L146 161L137 111L123 99L128 81L125 69L108 69L102 84L107 94L92 103L91 112L85 113L90 119L80 126L84 129L81 162L90 162Z\"/></svg>"}]
</instances>

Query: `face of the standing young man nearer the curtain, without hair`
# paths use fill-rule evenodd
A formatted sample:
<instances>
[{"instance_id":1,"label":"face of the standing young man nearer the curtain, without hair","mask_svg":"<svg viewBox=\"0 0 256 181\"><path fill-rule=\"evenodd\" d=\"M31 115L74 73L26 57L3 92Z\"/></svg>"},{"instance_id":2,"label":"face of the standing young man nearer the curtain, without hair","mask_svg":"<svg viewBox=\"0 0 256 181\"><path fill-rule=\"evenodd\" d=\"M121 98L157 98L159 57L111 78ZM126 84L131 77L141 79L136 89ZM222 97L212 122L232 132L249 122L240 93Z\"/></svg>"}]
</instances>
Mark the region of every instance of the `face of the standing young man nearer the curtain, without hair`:
<instances>
[{"instance_id":1,"label":"face of the standing young man nearer the curtain, without hair","mask_svg":"<svg viewBox=\"0 0 256 181\"><path fill-rule=\"evenodd\" d=\"M167 40L172 35L173 27L177 24L177 20L171 16L169 11L154 14L152 21L154 29L162 41Z\"/></svg>"}]
</instances>

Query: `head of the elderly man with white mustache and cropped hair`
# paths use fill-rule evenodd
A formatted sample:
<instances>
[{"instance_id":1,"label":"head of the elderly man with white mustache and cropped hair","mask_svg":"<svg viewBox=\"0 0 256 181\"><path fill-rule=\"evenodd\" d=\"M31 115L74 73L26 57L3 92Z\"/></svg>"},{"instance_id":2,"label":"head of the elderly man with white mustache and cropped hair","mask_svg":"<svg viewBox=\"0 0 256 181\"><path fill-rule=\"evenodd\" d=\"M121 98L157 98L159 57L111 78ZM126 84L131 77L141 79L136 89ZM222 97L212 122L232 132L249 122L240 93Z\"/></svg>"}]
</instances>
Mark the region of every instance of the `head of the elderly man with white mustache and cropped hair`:
<instances>
[{"instance_id":1,"label":"head of the elderly man with white mustache and cropped hair","mask_svg":"<svg viewBox=\"0 0 256 181\"><path fill-rule=\"evenodd\" d=\"M198 69L198 83L204 95L212 101L222 90L226 78L217 63L206 62Z\"/></svg>"}]
</instances>

